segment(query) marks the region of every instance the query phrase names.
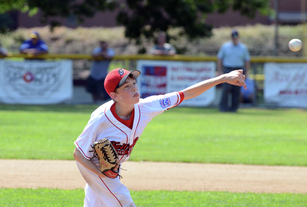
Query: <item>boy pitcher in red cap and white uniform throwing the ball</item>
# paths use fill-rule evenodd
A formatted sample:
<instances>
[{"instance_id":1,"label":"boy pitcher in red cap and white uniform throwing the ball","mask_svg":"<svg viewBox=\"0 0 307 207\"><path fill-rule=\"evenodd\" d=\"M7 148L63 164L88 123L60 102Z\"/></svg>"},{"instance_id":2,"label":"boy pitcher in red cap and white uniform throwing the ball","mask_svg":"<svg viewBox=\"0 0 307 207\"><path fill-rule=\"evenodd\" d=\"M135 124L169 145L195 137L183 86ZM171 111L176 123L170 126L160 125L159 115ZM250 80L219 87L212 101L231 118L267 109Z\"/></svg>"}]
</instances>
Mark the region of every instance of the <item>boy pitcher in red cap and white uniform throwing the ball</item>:
<instances>
[{"instance_id":1,"label":"boy pitcher in red cap and white uniform throwing the ball","mask_svg":"<svg viewBox=\"0 0 307 207\"><path fill-rule=\"evenodd\" d=\"M163 111L217 84L226 82L246 88L242 72L232 71L179 92L145 99L140 99L135 80L140 71L115 68L109 72L104 87L113 100L91 114L74 142L73 156L86 181L84 207L135 207L129 190L120 182L120 164L129 159L146 125Z\"/></svg>"}]
</instances>

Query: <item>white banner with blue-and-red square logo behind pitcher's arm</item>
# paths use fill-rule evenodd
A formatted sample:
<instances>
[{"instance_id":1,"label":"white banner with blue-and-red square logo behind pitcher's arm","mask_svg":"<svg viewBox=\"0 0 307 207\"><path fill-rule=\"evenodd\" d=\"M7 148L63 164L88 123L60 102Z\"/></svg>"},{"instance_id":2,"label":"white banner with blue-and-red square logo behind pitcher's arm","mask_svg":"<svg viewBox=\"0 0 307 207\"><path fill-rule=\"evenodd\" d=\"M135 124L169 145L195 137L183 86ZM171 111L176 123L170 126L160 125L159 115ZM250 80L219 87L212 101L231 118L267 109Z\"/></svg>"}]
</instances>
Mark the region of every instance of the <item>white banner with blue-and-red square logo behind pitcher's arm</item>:
<instances>
[{"instance_id":1,"label":"white banner with blue-and-red square logo behind pitcher's arm","mask_svg":"<svg viewBox=\"0 0 307 207\"><path fill-rule=\"evenodd\" d=\"M181 91L189 86L215 77L215 62L147 61L139 60L141 71L138 88L141 98ZM200 96L185 100L181 106L208 106L215 98L215 87Z\"/></svg>"}]
</instances>

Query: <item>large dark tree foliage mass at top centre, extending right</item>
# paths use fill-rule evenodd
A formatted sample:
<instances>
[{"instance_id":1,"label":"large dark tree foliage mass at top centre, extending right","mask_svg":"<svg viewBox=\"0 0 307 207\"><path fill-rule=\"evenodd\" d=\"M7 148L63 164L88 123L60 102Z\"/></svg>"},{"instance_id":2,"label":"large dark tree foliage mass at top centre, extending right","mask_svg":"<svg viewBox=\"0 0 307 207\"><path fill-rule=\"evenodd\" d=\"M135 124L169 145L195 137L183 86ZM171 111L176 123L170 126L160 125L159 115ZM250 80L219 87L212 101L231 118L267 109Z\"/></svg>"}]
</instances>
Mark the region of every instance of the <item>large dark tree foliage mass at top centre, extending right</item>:
<instances>
[{"instance_id":1,"label":"large dark tree foliage mass at top centre, extending right","mask_svg":"<svg viewBox=\"0 0 307 207\"><path fill-rule=\"evenodd\" d=\"M188 37L208 37L212 25L206 23L206 14L226 12L232 7L242 15L254 18L256 12L268 14L267 0L126 0L117 21L126 26L126 36L151 37L158 30L181 27ZM127 10L129 9L129 10Z\"/></svg>"}]
</instances>

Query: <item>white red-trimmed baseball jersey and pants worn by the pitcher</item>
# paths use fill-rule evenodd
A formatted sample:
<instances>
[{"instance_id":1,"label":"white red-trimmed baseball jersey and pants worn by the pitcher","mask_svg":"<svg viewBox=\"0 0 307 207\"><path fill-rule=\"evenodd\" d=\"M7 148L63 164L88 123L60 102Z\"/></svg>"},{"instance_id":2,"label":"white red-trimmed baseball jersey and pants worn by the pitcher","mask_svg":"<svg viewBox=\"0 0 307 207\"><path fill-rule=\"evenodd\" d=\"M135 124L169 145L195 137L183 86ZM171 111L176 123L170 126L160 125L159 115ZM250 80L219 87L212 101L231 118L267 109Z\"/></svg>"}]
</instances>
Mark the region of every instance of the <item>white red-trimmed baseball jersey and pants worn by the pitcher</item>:
<instances>
[{"instance_id":1,"label":"white red-trimmed baseball jersey and pants worn by the pitcher","mask_svg":"<svg viewBox=\"0 0 307 207\"><path fill-rule=\"evenodd\" d=\"M110 108L113 100L98 107L92 114L84 131L74 142L77 149L90 159L93 156L91 145L94 142L107 138L115 147L119 161L126 162L135 143L140 138L146 125L153 117L163 111L177 106L184 99L182 92L173 92L165 95L150 96L140 99L134 104L134 121L130 129L119 122L112 114ZM98 158L92 161L99 167ZM87 170L79 162L77 166L83 178L87 182L85 186L84 207L134 207L136 206L130 196L129 190L120 181L119 177L101 178Z\"/></svg>"}]
</instances>

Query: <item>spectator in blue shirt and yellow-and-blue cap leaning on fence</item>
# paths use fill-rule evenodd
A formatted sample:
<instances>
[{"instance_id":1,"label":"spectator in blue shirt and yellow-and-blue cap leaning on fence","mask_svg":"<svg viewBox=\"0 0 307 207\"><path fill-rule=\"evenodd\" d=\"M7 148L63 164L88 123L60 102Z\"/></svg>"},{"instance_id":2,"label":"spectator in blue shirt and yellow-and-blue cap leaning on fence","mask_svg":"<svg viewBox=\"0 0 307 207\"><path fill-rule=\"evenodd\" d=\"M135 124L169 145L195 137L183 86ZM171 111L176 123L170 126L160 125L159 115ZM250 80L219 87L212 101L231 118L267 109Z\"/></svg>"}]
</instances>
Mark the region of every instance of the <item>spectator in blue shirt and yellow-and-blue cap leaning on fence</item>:
<instances>
[{"instance_id":1,"label":"spectator in blue shirt and yellow-and-blue cap leaning on fence","mask_svg":"<svg viewBox=\"0 0 307 207\"><path fill-rule=\"evenodd\" d=\"M48 53L48 46L44 41L41 40L39 34L37 32L32 32L30 34L29 40L25 40L21 46L19 47L20 53L25 54L45 54Z\"/></svg>"}]
</instances>

